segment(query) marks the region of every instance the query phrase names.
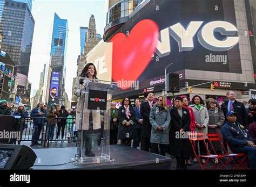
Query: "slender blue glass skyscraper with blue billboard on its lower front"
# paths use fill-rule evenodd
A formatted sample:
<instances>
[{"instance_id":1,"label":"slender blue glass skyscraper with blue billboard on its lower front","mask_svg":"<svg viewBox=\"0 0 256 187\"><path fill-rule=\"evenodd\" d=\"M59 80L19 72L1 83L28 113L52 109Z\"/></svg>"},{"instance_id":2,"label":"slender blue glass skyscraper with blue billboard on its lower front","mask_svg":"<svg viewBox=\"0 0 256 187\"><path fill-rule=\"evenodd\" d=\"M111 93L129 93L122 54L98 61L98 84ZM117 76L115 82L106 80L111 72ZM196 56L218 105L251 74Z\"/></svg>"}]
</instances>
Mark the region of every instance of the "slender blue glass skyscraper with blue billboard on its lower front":
<instances>
[{"instance_id":1,"label":"slender blue glass skyscraper with blue billboard on its lower front","mask_svg":"<svg viewBox=\"0 0 256 187\"><path fill-rule=\"evenodd\" d=\"M68 41L68 20L54 15L51 41L50 66L46 90L46 102L59 103L62 98L66 74L66 46Z\"/></svg>"}]
</instances>

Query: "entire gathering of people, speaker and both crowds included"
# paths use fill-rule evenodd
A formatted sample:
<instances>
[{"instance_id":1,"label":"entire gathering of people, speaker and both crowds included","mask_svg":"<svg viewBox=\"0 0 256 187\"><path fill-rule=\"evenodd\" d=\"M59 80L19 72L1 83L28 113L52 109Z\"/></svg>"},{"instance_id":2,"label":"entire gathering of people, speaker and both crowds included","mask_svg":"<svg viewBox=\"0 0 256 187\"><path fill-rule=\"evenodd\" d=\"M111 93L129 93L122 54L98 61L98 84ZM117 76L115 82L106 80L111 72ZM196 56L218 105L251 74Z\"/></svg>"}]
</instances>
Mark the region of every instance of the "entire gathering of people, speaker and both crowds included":
<instances>
[{"instance_id":1,"label":"entire gathering of people, speaker and both crowds included","mask_svg":"<svg viewBox=\"0 0 256 187\"><path fill-rule=\"evenodd\" d=\"M47 118L47 137L50 143L55 142L53 132L56 126L56 139L60 138L61 132L62 141L64 130L67 128L69 137L78 136L78 149L81 140L84 139L85 155L95 156L91 149L93 145L100 145L99 137L104 129L104 114L96 110L86 112L82 108L88 81L98 82L97 70L93 63L86 64L76 82L76 112L69 113L65 106L57 110L56 104L51 104L48 109L42 102L38 103L30 114L30 117L36 117L33 119L31 146L39 145L37 140ZM115 145L120 140L121 145L140 147L146 152L163 156L169 153L177 159L177 169L187 169L187 166L192 166L192 160L193 163L197 163L199 160L196 155L207 155L208 151L221 155L227 153L230 147L232 152L248 155L250 167L256 169L256 99L238 102L234 91L228 91L226 97L226 102L217 102L213 98L204 101L199 95L193 96L191 102L188 102L187 98L176 97L173 105L167 106L166 96L159 96L154 102L154 93L149 92L145 100L137 98L134 107L129 97L123 99L122 106L118 109L117 103L112 102L110 145ZM11 114L6 100L0 101L0 114ZM14 115L26 117L28 113L24 105L20 104ZM208 148L204 140L192 142L188 136L183 136L192 132L204 133ZM210 146L207 134L219 134L221 141L212 142ZM96 143L93 143L94 140ZM77 152L78 155L81 154L79 152L80 150ZM201 157L200 162L206 162L204 157Z\"/></svg>"}]
</instances>

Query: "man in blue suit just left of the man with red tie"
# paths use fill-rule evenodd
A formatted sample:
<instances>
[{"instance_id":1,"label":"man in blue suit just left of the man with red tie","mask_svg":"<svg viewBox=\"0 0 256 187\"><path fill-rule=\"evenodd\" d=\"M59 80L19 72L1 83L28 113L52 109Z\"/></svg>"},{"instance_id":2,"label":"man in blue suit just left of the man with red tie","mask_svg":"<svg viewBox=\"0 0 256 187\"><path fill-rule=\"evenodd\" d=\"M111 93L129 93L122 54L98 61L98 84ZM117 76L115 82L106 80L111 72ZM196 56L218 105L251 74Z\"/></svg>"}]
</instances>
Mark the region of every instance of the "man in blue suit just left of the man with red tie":
<instances>
[{"instance_id":1,"label":"man in blue suit just left of the man with red tie","mask_svg":"<svg viewBox=\"0 0 256 187\"><path fill-rule=\"evenodd\" d=\"M133 139L132 147L137 149L140 143L140 149L142 149L142 115L140 115L140 100L135 99L135 134L136 138Z\"/></svg>"}]
</instances>

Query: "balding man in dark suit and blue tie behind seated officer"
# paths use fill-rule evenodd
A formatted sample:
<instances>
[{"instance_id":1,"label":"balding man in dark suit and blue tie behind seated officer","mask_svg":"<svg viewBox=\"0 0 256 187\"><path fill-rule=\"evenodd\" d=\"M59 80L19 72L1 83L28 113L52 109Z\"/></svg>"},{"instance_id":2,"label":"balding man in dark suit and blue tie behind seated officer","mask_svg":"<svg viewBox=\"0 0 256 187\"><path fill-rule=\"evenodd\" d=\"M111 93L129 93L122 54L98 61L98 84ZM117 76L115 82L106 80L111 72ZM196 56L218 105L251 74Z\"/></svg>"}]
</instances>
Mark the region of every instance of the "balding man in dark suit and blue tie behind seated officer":
<instances>
[{"instance_id":1,"label":"balding man in dark suit and blue tie behind seated officer","mask_svg":"<svg viewBox=\"0 0 256 187\"><path fill-rule=\"evenodd\" d=\"M221 110L223 110L225 118L227 112L234 111L237 113L237 122L242 125L247 124L247 116L244 104L235 100L235 93L233 91L228 91L226 94L228 101L221 105Z\"/></svg>"}]
</instances>

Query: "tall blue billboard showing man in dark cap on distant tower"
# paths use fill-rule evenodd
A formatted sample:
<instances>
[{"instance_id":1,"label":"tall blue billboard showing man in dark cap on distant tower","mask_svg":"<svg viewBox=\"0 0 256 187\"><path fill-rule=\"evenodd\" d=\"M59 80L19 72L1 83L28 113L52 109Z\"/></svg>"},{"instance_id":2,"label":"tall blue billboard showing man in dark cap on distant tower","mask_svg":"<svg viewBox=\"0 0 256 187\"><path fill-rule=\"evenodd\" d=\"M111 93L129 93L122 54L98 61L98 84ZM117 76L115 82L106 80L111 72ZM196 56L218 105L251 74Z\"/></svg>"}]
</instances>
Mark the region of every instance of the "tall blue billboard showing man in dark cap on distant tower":
<instances>
[{"instance_id":1,"label":"tall blue billboard showing man in dark cap on distant tower","mask_svg":"<svg viewBox=\"0 0 256 187\"><path fill-rule=\"evenodd\" d=\"M48 105L51 105L52 103L59 102L59 100L58 100L59 77L60 77L60 72L52 71Z\"/></svg>"}]
</instances>

